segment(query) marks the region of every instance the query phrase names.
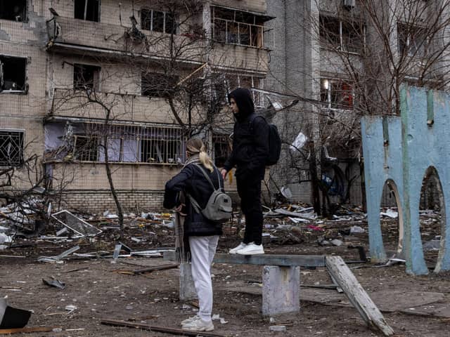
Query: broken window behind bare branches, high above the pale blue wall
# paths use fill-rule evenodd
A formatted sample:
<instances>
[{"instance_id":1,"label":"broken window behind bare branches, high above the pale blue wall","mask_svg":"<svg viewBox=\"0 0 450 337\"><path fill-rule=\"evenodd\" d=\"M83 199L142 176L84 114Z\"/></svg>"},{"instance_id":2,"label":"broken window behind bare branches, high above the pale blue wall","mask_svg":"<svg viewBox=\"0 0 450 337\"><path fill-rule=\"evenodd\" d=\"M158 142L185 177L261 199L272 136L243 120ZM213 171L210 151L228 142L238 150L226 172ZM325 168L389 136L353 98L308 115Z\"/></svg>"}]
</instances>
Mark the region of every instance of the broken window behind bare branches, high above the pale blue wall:
<instances>
[{"instance_id":1,"label":"broken window behind bare branches, high above the pale blue wall","mask_svg":"<svg viewBox=\"0 0 450 337\"><path fill-rule=\"evenodd\" d=\"M399 23L397 25L399 53L401 55L425 56L428 49L426 29Z\"/></svg>"}]
</instances>

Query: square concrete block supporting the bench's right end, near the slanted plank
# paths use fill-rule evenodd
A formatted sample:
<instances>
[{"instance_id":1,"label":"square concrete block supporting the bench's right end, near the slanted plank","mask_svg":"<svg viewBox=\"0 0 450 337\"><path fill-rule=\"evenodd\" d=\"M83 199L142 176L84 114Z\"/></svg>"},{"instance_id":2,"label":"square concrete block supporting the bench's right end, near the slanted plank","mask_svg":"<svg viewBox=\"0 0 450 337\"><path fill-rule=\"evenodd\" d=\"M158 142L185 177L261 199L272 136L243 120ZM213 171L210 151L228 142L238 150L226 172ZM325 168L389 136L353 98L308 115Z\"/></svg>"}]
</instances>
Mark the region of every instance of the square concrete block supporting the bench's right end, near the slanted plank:
<instances>
[{"instance_id":1,"label":"square concrete block supporting the bench's right end, near the slanted plank","mask_svg":"<svg viewBox=\"0 0 450 337\"><path fill-rule=\"evenodd\" d=\"M262 315L300 312L300 267L265 265L262 271Z\"/></svg>"}]
</instances>

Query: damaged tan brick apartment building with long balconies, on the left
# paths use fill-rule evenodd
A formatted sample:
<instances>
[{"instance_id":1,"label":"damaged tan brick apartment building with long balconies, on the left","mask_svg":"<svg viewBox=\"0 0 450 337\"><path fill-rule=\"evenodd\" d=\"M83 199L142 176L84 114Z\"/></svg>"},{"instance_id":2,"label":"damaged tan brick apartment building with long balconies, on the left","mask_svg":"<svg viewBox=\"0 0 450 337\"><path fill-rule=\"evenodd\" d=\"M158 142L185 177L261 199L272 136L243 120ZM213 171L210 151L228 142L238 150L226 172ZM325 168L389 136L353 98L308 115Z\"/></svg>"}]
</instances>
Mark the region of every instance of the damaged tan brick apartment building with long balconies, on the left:
<instances>
[{"instance_id":1,"label":"damaged tan brick apartment building with long balconies, on the left","mask_svg":"<svg viewBox=\"0 0 450 337\"><path fill-rule=\"evenodd\" d=\"M108 166L124 209L160 207L189 136L223 164L226 92L263 88L269 71L266 12L262 0L0 0L0 166L25 176L37 154L47 187L86 211L115 207Z\"/></svg>"}]
</instances>

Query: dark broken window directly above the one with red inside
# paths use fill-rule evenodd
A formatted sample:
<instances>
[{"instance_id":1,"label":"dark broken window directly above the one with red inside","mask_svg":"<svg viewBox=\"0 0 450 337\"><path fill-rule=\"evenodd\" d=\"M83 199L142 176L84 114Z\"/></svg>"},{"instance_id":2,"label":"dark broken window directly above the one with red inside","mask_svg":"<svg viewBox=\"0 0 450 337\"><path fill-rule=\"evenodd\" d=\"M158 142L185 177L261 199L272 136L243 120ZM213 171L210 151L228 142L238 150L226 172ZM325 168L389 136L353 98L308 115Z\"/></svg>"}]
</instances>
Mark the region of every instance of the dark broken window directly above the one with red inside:
<instances>
[{"instance_id":1,"label":"dark broken window directly above the one with red inside","mask_svg":"<svg viewBox=\"0 0 450 337\"><path fill-rule=\"evenodd\" d=\"M340 51L360 53L364 48L364 25L361 22L319 16L321 43Z\"/></svg>"}]
</instances>

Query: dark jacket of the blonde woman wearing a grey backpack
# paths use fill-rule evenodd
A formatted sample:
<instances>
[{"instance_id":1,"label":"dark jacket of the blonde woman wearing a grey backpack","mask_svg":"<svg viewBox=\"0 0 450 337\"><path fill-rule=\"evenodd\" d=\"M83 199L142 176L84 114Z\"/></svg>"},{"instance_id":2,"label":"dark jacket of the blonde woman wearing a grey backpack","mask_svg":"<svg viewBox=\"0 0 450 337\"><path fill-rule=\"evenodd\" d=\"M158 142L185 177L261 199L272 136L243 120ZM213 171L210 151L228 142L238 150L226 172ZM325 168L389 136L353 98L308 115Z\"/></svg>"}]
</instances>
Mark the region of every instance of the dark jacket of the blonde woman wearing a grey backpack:
<instances>
[{"instance_id":1,"label":"dark jacket of the blonde woman wearing a grey backpack","mask_svg":"<svg viewBox=\"0 0 450 337\"><path fill-rule=\"evenodd\" d=\"M201 165L201 164L200 164ZM217 168L214 172L210 172L203 167L204 171L208 173L212 183L217 188L219 183L217 181ZM224 186L224 180L219 173L220 184ZM174 178L169 180L165 186L164 203L166 209L172 209L179 205L178 195L180 191L191 194L191 196L198 202L202 209L205 208L210 195L213 192L212 186L206 180L200 168L194 164L189 164L181 170ZM208 220L202 213L196 213L191 205L191 201L186 197L186 220L184 221L184 234L187 236L206 236L206 235L221 235L221 223Z\"/></svg>"}]
</instances>

